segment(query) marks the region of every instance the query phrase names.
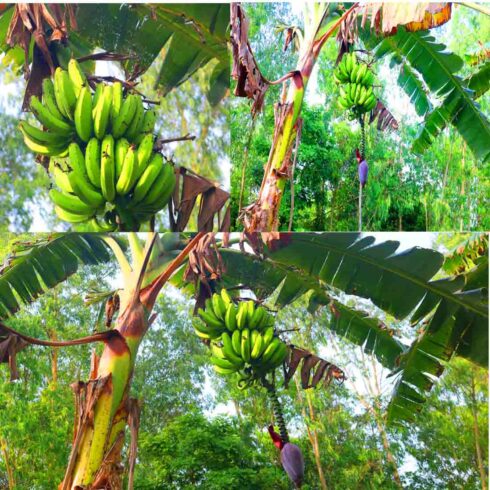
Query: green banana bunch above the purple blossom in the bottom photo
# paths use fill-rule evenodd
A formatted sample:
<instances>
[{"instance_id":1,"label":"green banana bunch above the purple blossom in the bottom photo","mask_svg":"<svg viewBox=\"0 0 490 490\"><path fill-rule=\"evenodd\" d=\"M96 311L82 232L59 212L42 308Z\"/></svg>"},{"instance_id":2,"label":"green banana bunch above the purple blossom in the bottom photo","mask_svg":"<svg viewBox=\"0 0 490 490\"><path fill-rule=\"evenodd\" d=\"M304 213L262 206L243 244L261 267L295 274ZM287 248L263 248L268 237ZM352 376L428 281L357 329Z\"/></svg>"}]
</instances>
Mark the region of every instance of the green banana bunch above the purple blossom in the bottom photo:
<instances>
[{"instance_id":1,"label":"green banana bunch above the purple blossom in the bottom photo","mask_svg":"<svg viewBox=\"0 0 490 490\"><path fill-rule=\"evenodd\" d=\"M274 317L254 301L236 305L226 289L206 300L196 334L210 340L211 363L220 374L242 371L242 379L262 376L280 366L287 345L275 334Z\"/></svg>"}]
</instances>

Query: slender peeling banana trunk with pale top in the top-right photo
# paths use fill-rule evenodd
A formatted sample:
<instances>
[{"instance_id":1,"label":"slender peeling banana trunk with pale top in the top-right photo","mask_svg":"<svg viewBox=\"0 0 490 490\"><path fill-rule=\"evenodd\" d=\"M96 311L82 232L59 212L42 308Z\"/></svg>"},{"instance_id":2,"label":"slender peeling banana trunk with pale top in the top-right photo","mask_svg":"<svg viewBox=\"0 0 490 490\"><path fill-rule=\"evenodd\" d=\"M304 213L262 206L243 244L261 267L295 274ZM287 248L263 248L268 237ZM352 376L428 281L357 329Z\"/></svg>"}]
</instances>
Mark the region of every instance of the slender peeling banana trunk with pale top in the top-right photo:
<instances>
[{"instance_id":1,"label":"slender peeling banana trunk with pale top in the top-right photo","mask_svg":"<svg viewBox=\"0 0 490 490\"><path fill-rule=\"evenodd\" d=\"M289 88L277 105L274 139L257 201L246 210L243 218L245 228L250 233L279 228L279 209L291 175L291 154L311 72L327 39L356 7L357 3L331 24L322 26L328 4L305 4L304 37L300 38L299 61L296 69L280 80L288 83Z\"/></svg>"}]
</instances>

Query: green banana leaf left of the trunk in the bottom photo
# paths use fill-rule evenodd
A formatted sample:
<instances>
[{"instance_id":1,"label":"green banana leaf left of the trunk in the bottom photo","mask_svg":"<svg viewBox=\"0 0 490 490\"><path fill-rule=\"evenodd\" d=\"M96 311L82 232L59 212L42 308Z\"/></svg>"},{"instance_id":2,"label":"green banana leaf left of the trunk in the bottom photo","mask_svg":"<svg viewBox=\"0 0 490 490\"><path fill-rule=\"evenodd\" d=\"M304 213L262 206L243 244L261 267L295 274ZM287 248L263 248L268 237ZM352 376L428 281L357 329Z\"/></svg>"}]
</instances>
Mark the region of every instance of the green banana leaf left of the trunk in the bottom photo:
<instances>
[{"instance_id":1,"label":"green banana leaf left of the trunk in the bottom photo","mask_svg":"<svg viewBox=\"0 0 490 490\"><path fill-rule=\"evenodd\" d=\"M65 281L80 264L111 259L103 235L96 233L59 233L18 244L0 272L0 318Z\"/></svg>"}]
</instances>

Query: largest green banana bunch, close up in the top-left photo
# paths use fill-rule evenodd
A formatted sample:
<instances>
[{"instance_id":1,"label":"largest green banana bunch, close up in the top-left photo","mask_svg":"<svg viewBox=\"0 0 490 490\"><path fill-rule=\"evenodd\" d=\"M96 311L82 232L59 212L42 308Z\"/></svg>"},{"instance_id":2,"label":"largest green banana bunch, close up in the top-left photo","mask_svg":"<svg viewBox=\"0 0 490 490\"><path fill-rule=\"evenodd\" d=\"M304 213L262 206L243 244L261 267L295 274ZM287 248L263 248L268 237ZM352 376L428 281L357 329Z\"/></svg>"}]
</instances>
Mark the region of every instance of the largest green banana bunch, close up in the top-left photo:
<instances>
[{"instance_id":1,"label":"largest green banana bunch, close up in the top-left photo","mask_svg":"<svg viewBox=\"0 0 490 490\"><path fill-rule=\"evenodd\" d=\"M55 211L70 223L91 222L96 231L124 223L138 230L164 208L175 186L172 165L154 151L156 113L120 82L99 83L92 94L74 59L43 80L42 101L30 107L42 128L21 121L26 145L50 157L58 188Z\"/></svg>"}]
</instances>

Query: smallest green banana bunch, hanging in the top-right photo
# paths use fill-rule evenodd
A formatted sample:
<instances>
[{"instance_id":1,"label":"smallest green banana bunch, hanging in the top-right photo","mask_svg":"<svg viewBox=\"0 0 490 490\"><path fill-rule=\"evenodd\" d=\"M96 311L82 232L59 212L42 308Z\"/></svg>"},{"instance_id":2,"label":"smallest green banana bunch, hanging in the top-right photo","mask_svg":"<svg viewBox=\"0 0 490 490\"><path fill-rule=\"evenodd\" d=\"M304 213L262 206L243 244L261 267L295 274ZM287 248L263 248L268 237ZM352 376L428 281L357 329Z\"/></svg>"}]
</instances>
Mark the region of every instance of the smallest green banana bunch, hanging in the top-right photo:
<instances>
[{"instance_id":1,"label":"smallest green banana bunch, hanging in the top-right photo","mask_svg":"<svg viewBox=\"0 0 490 490\"><path fill-rule=\"evenodd\" d=\"M338 103L356 115L371 111L376 105L373 93L374 74L365 63L358 63L354 53L346 53L334 72L340 84Z\"/></svg>"}]
</instances>

